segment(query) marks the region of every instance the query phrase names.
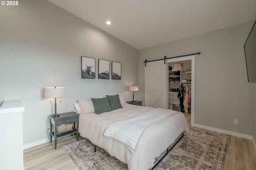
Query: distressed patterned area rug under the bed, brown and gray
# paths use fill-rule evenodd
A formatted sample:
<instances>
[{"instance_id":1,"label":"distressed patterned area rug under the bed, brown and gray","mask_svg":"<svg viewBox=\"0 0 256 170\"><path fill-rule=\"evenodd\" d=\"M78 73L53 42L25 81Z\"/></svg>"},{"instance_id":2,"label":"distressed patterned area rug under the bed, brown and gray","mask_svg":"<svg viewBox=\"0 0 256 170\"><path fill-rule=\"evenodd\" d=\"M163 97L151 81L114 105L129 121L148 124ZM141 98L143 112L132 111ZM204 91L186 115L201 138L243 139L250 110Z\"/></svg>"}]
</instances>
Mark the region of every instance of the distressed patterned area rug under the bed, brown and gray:
<instances>
[{"instance_id":1,"label":"distressed patterned area rug under the bed, brown and gray","mask_svg":"<svg viewBox=\"0 0 256 170\"><path fill-rule=\"evenodd\" d=\"M223 170L229 140L229 135L190 127L189 133L184 133L155 169ZM79 170L128 170L127 164L110 156L106 150L97 147L94 152L94 145L88 139L66 145L64 149Z\"/></svg>"}]
</instances>

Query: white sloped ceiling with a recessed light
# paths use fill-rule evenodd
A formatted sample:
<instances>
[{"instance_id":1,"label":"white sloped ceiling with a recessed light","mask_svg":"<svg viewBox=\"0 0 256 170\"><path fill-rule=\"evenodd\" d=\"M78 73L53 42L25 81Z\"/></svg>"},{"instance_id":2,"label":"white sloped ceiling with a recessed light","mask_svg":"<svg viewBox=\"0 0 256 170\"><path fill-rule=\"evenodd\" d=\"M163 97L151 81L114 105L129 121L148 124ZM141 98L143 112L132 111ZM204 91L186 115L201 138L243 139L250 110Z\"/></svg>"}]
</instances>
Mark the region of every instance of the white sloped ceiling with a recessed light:
<instances>
[{"instance_id":1,"label":"white sloped ceiling with a recessed light","mask_svg":"<svg viewBox=\"0 0 256 170\"><path fill-rule=\"evenodd\" d=\"M139 50L256 18L256 0L48 1Z\"/></svg>"}]
</instances>

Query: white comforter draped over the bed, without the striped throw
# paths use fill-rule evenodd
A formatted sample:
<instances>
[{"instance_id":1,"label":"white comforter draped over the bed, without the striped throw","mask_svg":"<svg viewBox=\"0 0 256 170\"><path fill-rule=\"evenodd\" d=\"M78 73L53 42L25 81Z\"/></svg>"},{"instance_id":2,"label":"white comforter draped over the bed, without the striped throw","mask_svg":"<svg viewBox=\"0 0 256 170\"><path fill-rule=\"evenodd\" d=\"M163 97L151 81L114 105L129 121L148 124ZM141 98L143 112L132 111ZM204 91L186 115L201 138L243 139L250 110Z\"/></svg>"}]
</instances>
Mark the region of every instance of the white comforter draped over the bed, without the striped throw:
<instances>
[{"instance_id":1,"label":"white comforter draped over the bed, without the striped throw","mask_svg":"<svg viewBox=\"0 0 256 170\"><path fill-rule=\"evenodd\" d=\"M180 112L150 127L140 138L136 151L132 153L123 143L104 137L106 128L111 123L129 119L155 108L130 104L125 104L123 107L100 115L80 114L78 131L82 137L89 139L94 145L105 149L110 155L127 163L129 170L148 170L153 166L155 158L166 150L180 133L188 131L186 118Z\"/></svg>"}]
</instances>

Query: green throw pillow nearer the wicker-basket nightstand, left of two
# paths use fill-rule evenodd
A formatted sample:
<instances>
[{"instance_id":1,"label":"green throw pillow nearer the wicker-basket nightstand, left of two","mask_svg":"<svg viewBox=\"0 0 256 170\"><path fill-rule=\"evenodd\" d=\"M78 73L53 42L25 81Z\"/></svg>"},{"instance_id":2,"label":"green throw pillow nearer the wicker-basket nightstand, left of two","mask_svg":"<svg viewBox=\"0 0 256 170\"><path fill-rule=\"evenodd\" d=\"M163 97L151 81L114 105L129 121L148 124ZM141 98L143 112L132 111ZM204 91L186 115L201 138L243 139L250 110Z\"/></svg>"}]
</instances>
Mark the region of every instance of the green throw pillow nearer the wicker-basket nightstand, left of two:
<instances>
[{"instance_id":1,"label":"green throw pillow nearer the wicker-basket nightstand, left of two","mask_svg":"<svg viewBox=\"0 0 256 170\"><path fill-rule=\"evenodd\" d=\"M111 111L107 98L91 98L96 114Z\"/></svg>"}]
</instances>

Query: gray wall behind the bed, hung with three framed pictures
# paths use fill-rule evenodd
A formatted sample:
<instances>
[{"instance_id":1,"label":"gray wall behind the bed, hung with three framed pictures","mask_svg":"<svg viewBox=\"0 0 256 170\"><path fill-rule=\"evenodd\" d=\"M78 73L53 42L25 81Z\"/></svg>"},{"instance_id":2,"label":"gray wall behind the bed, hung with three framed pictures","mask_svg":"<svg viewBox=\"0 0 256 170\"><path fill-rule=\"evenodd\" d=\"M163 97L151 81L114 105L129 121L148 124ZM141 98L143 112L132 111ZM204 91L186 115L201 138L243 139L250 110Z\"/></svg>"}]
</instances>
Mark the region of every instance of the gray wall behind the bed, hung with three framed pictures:
<instances>
[{"instance_id":1,"label":"gray wall behind the bed, hung with three framed pictures","mask_svg":"<svg viewBox=\"0 0 256 170\"><path fill-rule=\"evenodd\" d=\"M132 100L127 90L138 84L137 49L46 0L0 6L0 23L0 106L22 100L24 144L47 139L54 99L43 97L44 87L66 87L58 113L74 111L77 99L124 92ZM122 63L121 80L81 79L81 56L96 58L96 74L98 59Z\"/></svg>"}]
</instances>

